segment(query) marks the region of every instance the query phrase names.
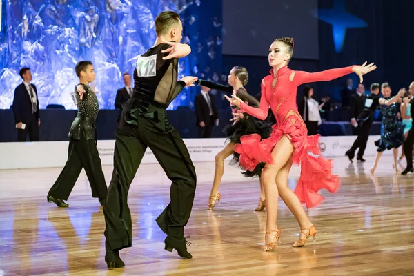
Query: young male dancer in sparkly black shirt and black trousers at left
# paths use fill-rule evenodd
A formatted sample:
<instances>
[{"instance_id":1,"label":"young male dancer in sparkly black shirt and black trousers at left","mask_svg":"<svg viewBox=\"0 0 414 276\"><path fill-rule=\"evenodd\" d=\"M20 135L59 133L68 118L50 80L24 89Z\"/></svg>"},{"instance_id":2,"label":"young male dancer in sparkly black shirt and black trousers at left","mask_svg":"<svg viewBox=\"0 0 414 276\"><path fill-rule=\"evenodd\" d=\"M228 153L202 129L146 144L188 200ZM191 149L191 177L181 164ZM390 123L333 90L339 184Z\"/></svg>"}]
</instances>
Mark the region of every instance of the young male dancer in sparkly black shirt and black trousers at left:
<instances>
[{"instance_id":1,"label":"young male dancer in sparkly black shirt and black trousers at left","mask_svg":"<svg viewBox=\"0 0 414 276\"><path fill-rule=\"evenodd\" d=\"M95 80L95 70L92 62L79 61L75 71L79 77L79 84L75 86L73 97L78 112L68 135L68 161L47 196L49 202L59 207L69 206L63 200L68 200L82 168L85 169L92 188L92 197L97 197L103 205L108 193L96 144L95 120L99 112L99 103L94 90L89 86L89 83Z\"/></svg>"}]
</instances>

